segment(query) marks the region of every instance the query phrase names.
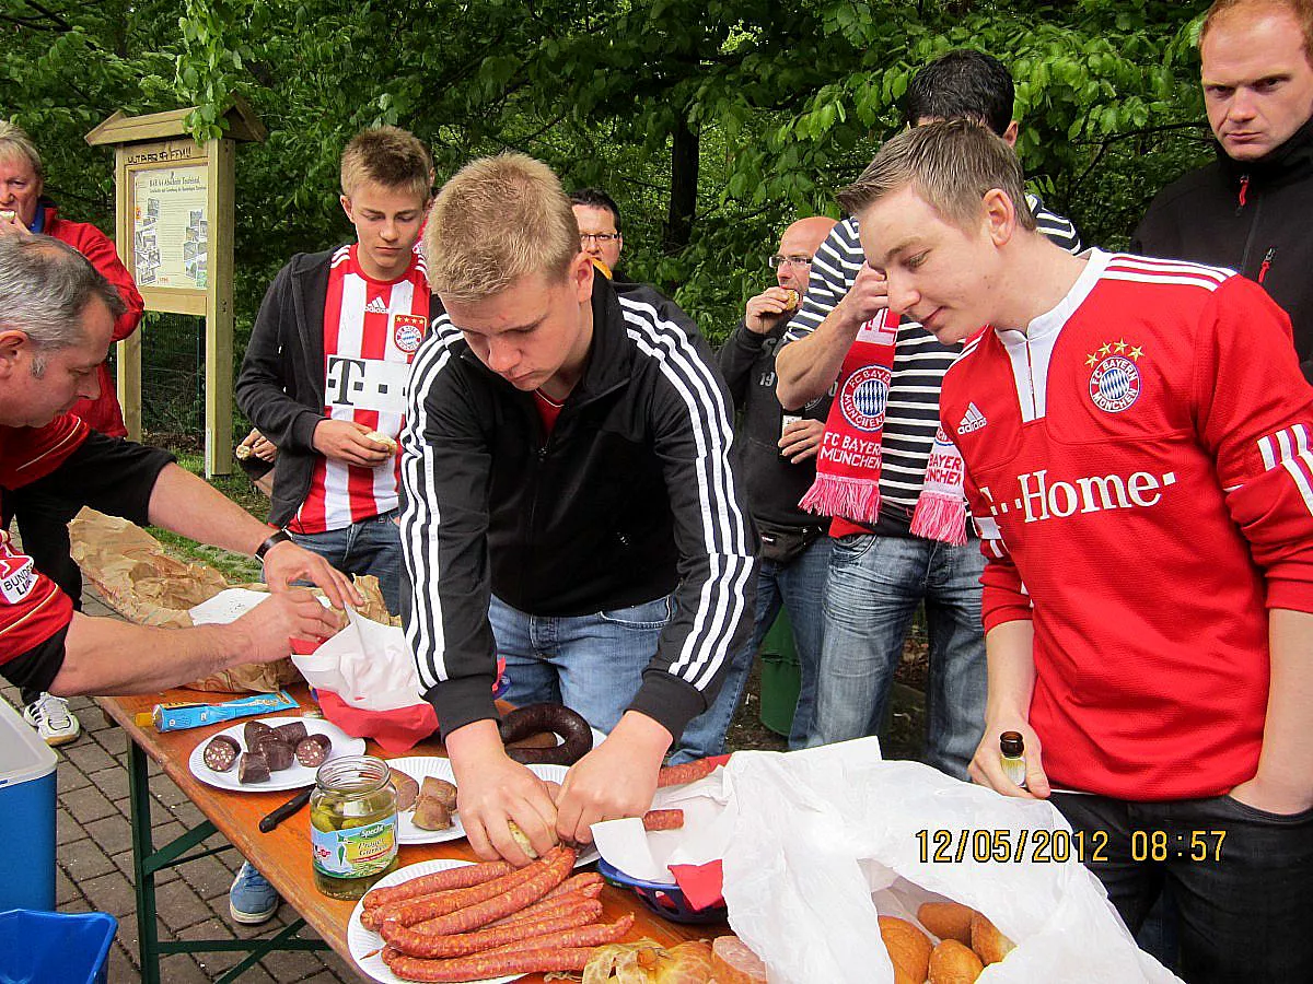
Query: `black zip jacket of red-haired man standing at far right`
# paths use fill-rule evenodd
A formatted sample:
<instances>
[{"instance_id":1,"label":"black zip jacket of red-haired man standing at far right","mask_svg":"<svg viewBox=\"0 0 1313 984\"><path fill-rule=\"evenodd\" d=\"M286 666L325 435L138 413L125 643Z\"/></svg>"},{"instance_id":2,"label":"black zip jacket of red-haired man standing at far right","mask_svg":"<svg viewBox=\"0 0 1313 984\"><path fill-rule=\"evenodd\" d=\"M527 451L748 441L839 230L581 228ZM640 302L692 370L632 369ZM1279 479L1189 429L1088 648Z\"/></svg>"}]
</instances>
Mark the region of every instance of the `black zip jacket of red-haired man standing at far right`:
<instances>
[{"instance_id":1,"label":"black zip jacket of red-haired man standing at far right","mask_svg":"<svg viewBox=\"0 0 1313 984\"><path fill-rule=\"evenodd\" d=\"M1167 185L1130 252L1228 266L1263 285L1291 316L1304 378L1313 380L1313 118L1271 154L1217 160Z\"/></svg>"}]
</instances>

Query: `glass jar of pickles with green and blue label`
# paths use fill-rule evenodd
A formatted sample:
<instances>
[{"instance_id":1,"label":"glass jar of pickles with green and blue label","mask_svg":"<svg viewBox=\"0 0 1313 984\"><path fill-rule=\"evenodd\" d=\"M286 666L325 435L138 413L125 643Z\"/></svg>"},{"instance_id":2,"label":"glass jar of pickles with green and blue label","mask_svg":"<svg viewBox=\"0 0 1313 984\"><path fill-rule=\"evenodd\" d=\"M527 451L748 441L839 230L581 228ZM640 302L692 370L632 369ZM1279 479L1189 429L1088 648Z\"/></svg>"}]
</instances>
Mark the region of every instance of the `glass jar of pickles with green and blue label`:
<instances>
[{"instance_id":1,"label":"glass jar of pickles with green and blue label","mask_svg":"<svg viewBox=\"0 0 1313 984\"><path fill-rule=\"evenodd\" d=\"M397 867L397 789L387 762L343 756L319 766L310 794L315 886L358 899Z\"/></svg>"}]
</instances>

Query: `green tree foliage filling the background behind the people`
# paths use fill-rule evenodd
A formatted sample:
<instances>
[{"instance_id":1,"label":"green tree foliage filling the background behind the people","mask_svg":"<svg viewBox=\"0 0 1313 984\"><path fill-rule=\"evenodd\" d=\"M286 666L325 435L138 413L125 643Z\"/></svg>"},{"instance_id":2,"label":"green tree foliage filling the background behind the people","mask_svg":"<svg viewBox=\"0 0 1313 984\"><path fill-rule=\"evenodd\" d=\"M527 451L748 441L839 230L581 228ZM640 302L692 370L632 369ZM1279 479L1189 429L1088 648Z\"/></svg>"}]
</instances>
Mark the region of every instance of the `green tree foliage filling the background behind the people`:
<instances>
[{"instance_id":1,"label":"green tree foliage filling the background behind the people","mask_svg":"<svg viewBox=\"0 0 1313 984\"><path fill-rule=\"evenodd\" d=\"M1192 29L1157 0L3 0L0 113L50 157L51 188L106 222L109 161L81 135L118 108L194 105L198 138L243 96L270 130L238 157L239 318L297 251L349 230L337 156L404 126L440 180L516 148L625 214L632 276L717 336L769 279L780 230L902 125L931 58L1012 67L1018 151L1088 241L1123 245L1149 197L1208 154ZM487 235L496 235L488 230Z\"/></svg>"}]
</instances>

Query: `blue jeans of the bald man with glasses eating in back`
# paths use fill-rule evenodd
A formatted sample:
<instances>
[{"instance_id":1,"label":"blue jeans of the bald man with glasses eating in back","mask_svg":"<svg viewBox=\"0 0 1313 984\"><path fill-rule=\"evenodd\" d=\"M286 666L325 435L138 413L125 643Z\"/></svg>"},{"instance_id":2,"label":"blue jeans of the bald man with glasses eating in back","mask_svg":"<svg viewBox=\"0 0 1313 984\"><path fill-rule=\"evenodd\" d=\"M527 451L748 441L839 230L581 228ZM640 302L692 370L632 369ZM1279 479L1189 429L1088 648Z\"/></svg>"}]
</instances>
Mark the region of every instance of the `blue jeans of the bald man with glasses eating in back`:
<instances>
[{"instance_id":1,"label":"blue jeans of the bald man with glasses eating in back","mask_svg":"<svg viewBox=\"0 0 1313 984\"><path fill-rule=\"evenodd\" d=\"M821 639L825 634L823 605L826 576L830 567L830 543L829 537L821 537L800 556L783 567L773 560L758 560L756 622L752 627L751 651L756 653L762 649L762 640L775 625L780 607L784 607L789 613L789 622L793 626L793 644L802 669L798 703L793 710L793 727L789 729L790 749L806 748L811 732L817 676L821 672ZM746 673L743 678L747 678ZM730 682L729 678L725 681L725 690L729 690ZM739 695L742 695L742 680L738 682L738 689ZM725 690L721 690L721 697L716 698L713 710L721 705ZM734 707L730 708L731 716L737 706L738 695Z\"/></svg>"}]
</instances>

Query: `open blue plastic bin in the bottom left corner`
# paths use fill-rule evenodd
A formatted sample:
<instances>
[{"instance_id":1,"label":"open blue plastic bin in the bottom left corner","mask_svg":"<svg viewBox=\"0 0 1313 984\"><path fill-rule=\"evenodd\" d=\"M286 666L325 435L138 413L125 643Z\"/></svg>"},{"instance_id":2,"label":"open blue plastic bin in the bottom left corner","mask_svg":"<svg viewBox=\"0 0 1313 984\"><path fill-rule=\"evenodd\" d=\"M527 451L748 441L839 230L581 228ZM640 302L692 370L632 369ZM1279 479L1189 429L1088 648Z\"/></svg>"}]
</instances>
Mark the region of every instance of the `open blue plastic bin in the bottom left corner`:
<instances>
[{"instance_id":1,"label":"open blue plastic bin in the bottom left corner","mask_svg":"<svg viewBox=\"0 0 1313 984\"><path fill-rule=\"evenodd\" d=\"M0 984L105 984L117 929L104 912L0 912Z\"/></svg>"}]
</instances>

